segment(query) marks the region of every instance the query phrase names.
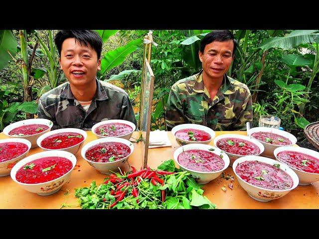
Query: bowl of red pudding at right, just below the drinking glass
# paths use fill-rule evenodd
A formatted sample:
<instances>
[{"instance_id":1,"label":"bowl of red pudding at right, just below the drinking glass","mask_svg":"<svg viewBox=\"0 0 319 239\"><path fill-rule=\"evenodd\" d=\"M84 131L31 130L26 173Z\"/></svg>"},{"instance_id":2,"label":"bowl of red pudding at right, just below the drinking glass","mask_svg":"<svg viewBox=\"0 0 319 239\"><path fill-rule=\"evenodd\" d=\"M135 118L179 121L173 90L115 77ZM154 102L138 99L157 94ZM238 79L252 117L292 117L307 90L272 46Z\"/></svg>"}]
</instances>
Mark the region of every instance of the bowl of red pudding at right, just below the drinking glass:
<instances>
[{"instance_id":1,"label":"bowl of red pudding at right, just below the drinking glass","mask_svg":"<svg viewBox=\"0 0 319 239\"><path fill-rule=\"evenodd\" d=\"M265 150L262 156L275 158L274 150L282 146L292 146L297 142L297 138L284 130L270 127L255 127L247 131L247 135L261 142Z\"/></svg>"}]
</instances>

